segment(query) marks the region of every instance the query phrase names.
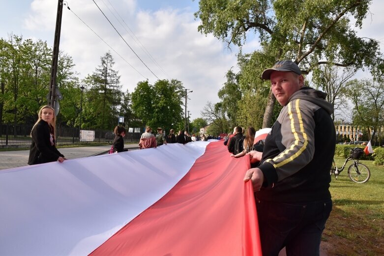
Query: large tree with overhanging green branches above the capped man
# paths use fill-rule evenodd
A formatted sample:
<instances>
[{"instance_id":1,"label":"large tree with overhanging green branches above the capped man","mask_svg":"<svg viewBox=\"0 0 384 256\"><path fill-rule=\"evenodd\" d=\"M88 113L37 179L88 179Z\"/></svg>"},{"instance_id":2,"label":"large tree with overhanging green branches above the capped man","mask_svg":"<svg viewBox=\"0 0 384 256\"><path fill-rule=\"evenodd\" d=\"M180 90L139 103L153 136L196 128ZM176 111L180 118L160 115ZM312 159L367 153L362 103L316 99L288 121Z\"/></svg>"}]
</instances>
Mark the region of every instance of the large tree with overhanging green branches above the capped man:
<instances>
[{"instance_id":1,"label":"large tree with overhanging green branches above the capped man","mask_svg":"<svg viewBox=\"0 0 384 256\"><path fill-rule=\"evenodd\" d=\"M277 59L293 59L308 74L322 64L369 67L383 66L379 42L360 38L351 25L361 28L371 0L200 0L198 30L241 47L252 31L259 37L266 59L262 68ZM268 63L267 63L268 62ZM260 67L259 67L260 68ZM260 77L261 73L258 73ZM263 127L269 127L275 98L269 91Z\"/></svg>"}]
</instances>

